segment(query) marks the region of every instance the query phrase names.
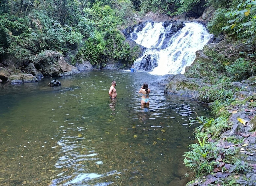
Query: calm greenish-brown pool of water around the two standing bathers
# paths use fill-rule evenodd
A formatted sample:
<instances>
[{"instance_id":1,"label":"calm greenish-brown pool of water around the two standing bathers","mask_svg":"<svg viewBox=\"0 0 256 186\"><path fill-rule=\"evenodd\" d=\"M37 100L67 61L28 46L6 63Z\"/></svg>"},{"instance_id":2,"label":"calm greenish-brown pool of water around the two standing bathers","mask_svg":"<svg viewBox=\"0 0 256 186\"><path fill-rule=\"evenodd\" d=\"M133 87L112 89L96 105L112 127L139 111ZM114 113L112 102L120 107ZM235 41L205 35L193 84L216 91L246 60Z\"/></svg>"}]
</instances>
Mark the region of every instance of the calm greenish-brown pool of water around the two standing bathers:
<instances>
[{"instance_id":1,"label":"calm greenish-brown pool of water around the two standing bathers","mask_svg":"<svg viewBox=\"0 0 256 186\"><path fill-rule=\"evenodd\" d=\"M168 76L85 71L24 85L0 84L0 185L184 185L190 120L209 111L164 94ZM109 99L111 82L117 99ZM138 91L148 82L149 107Z\"/></svg>"}]
</instances>

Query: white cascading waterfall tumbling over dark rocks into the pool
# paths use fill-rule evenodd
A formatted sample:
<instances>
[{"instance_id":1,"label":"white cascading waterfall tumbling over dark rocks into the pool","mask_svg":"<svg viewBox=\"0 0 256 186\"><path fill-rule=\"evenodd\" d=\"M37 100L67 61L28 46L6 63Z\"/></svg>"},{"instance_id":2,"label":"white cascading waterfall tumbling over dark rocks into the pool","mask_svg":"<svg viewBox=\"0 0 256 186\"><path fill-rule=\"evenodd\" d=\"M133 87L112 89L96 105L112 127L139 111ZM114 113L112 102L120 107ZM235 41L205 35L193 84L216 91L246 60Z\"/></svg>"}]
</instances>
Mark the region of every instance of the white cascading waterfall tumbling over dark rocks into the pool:
<instances>
[{"instance_id":1,"label":"white cascading waterfall tumbling over dark rocks into the pool","mask_svg":"<svg viewBox=\"0 0 256 186\"><path fill-rule=\"evenodd\" d=\"M130 38L146 48L142 57L134 62L139 71L155 75L184 73L185 67L195 60L195 52L203 49L213 37L197 22L184 23L184 27L172 32L172 23L146 22L130 34Z\"/></svg>"}]
</instances>

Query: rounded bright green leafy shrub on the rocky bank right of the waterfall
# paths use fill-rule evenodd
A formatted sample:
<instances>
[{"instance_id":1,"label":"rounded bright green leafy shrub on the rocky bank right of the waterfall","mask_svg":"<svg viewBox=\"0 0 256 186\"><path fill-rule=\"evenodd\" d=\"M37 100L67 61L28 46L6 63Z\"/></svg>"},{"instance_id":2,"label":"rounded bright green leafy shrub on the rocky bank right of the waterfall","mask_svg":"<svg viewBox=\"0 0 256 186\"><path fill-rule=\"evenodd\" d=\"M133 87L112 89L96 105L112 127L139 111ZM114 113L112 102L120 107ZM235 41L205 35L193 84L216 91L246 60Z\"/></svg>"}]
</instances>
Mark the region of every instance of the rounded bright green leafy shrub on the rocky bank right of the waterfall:
<instances>
[{"instance_id":1,"label":"rounded bright green leafy shrub on the rocky bank right of the waterfall","mask_svg":"<svg viewBox=\"0 0 256 186\"><path fill-rule=\"evenodd\" d=\"M251 71L250 66L250 61L239 58L234 64L225 67L228 75L232 76L233 80L243 80L249 75Z\"/></svg>"}]
</instances>

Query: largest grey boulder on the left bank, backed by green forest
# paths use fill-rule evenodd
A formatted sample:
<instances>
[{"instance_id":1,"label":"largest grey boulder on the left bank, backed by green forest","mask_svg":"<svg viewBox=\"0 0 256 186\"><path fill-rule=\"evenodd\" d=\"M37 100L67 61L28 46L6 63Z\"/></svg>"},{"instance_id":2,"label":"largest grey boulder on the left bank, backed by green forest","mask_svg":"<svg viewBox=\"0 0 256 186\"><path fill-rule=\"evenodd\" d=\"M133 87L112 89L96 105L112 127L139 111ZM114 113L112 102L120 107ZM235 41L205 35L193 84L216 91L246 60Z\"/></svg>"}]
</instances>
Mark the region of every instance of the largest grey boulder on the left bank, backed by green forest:
<instances>
[{"instance_id":1,"label":"largest grey boulder on the left bank, backed by green forest","mask_svg":"<svg viewBox=\"0 0 256 186\"><path fill-rule=\"evenodd\" d=\"M59 52L45 50L38 55L34 66L46 77L63 77L78 73L79 70L69 65Z\"/></svg>"}]
</instances>

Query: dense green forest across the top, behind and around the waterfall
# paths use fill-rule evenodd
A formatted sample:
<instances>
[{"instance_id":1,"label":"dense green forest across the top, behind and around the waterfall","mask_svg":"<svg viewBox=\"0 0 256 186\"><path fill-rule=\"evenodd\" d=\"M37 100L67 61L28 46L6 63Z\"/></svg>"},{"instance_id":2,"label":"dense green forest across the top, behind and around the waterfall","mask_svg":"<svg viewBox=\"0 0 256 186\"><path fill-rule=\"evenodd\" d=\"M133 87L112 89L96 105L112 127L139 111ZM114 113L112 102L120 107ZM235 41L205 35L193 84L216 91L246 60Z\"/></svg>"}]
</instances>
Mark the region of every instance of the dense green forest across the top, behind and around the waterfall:
<instances>
[{"instance_id":1,"label":"dense green forest across the top, behind and around the waterfall","mask_svg":"<svg viewBox=\"0 0 256 186\"><path fill-rule=\"evenodd\" d=\"M22 62L43 50L104 66L108 60L132 64L136 50L120 30L149 11L195 17L216 11L207 27L214 35L230 34L255 43L256 0L0 0L0 56Z\"/></svg>"}]
</instances>

